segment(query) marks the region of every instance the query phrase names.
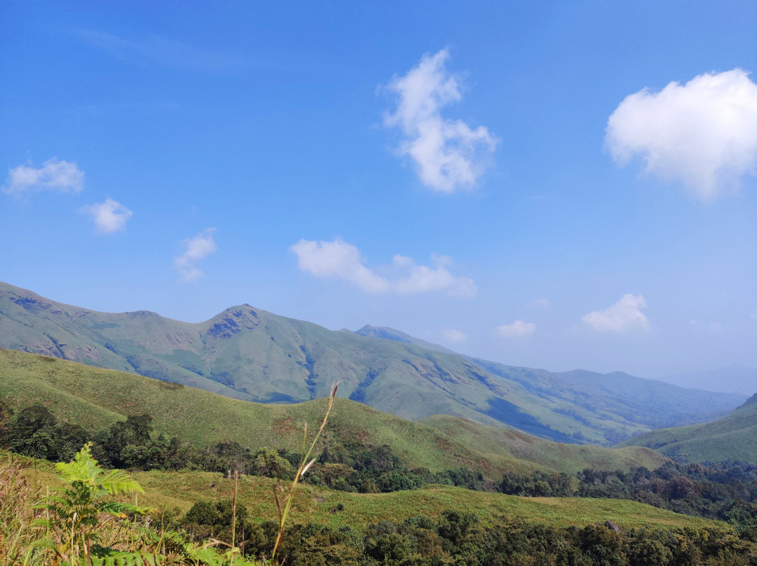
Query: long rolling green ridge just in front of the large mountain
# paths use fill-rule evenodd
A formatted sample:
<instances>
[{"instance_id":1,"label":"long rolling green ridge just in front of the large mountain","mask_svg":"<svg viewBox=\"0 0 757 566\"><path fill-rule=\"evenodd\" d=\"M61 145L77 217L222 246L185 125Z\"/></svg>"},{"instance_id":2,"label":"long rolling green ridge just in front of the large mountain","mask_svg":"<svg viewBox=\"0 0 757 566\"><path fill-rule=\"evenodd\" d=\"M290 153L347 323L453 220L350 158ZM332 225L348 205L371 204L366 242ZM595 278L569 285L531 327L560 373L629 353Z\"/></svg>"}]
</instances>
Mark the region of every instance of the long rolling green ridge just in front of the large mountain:
<instances>
[{"instance_id":1,"label":"long rolling green ridge just in front of the large mountain","mask_svg":"<svg viewBox=\"0 0 757 566\"><path fill-rule=\"evenodd\" d=\"M126 415L147 412L153 416L157 431L197 445L235 440L251 448L295 450L300 448L302 425L319 422L326 404L323 399L298 405L248 403L141 375L14 350L0 350L0 395L15 407L44 400L58 418L89 429L106 428ZM435 420L440 421L444 418ZM444 429L439 431L344 399L336 400L329 422L326 442L359 438L386 443L411 468L431 471L464 466L496 478L505 470L528 471L544 466L561 471L656 467L652 463L656 461L654 453L646 449L566 448L522 433L498 437L501 429L482 428L471 422L465 423L470 436L455 438ZM453 429L446 432L460 434ZM539 449L522 449L528 443ZM563 453L572 456L563 461Z\"/></svg>"}]
</instances>

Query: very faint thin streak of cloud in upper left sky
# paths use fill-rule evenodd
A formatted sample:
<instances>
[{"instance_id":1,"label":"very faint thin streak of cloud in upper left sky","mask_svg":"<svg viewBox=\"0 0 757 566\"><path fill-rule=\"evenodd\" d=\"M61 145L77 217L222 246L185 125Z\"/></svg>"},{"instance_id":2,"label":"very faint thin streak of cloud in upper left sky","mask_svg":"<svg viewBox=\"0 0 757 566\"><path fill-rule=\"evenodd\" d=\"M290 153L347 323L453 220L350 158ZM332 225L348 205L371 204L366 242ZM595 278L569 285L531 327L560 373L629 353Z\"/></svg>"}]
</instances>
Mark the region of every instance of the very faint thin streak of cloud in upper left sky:
<instances>
[{"instance_id":1,"label":"very faint thin streak of cloud in upper left sky","mask_svg":"<svg viewBox=\"0 0 757 566\"><path fill-rule=\"evenodd\" d=\"M223 70L245 64L243 59L235 55L206 51L154 34L126 39L95 30L77 30L77 33L89 44L129 63L149 61L167 67L196 70Z\"/></svg>"}]
</instances>

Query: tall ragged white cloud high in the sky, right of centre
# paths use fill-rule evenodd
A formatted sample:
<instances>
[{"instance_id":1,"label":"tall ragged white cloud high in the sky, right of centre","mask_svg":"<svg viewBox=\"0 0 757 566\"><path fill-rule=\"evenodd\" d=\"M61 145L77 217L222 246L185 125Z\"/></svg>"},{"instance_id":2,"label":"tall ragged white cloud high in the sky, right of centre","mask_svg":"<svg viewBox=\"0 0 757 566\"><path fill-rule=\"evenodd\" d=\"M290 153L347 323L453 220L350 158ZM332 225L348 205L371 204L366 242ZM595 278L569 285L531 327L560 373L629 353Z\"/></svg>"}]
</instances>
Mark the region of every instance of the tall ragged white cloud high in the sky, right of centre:
<instances>
[{"instance_id":1,"label":"tall ragged white cloud high in the sky, right of centre","mask_svg":"<svg viewBox=\"0 0 757 566\"><path fill-rule=\"evenodd\" d=\"M471 129L462 120L446 120L441 109L459 101L459 80L444 68L449 51L424 55L418 67L387 86L398 95L397 110L384 124L398 127L405 140L400 154L410 155L424 185L451 193L470 189L488 165L497 138L484 126Z\"/></svg>"}]
</instances>

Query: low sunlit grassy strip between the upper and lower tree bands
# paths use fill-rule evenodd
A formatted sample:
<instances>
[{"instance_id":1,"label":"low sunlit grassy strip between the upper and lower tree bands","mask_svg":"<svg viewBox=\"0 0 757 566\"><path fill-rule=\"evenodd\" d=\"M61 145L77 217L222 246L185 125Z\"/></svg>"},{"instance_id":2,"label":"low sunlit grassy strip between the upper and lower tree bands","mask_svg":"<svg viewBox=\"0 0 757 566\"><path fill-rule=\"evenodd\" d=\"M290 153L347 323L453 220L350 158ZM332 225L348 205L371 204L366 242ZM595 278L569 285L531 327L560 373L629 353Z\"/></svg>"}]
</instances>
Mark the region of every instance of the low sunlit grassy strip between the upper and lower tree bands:
<instances>
[{"instance_id":1,"label":"low sunlit grassy strip between the upper and lower tree bands","mask_svg":"<svg viewBox=\"0 0 757 566\"><path fill-rule=\"evenodd\" d=\"M0 458L8 452L0 450ZM26 477L44 491L45 486L58 487L55 468L50 462L14 456L26 462ZM209 472L138 472L132 477L139 481L145 493L139 495L139 505L152 508L178 509L185 513L195 502L228 498L233 481L222 474ZM239 478L238 499L258 521L276 521L276 502L273 491L276 481L267 477ZM332 512L340 504L344 511ZM345 493L322 487L301 484L291 508L290 524L309 523L329 527L349 526L358 532L379 521L401 522L418 515L438 517L453 509L474 512L484 524L509 519L523 519L549 524L553 527L584 527L587 524L613 521L622 529L656 527L718 527L730 529L719 521L678 515L644 505L618 499L579 499L551 497L516 497L500 493L464 490L459 487L430 486L422 490L394 493Z\"/></svg>"}]
</instances>

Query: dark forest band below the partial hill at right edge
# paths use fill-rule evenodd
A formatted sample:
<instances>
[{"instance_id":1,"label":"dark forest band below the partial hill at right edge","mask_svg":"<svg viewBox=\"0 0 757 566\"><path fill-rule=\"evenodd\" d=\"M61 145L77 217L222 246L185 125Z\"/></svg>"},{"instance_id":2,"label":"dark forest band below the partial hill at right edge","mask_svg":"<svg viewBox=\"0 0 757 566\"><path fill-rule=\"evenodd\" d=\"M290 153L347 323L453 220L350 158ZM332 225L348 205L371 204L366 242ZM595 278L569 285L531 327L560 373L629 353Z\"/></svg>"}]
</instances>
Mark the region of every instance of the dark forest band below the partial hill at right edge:
<instances>
[{"instance_id":1,"label":"dark forest band below the partial hill at right edge","mask_svg":"<svg viewBox=\"0 0 757 566\"><path fill-rule=\"evenodd\" d=\"M753 525L757 529L757 465L749 462L668 462L655 471L584 470L576 476L507 472L509 495L632 499L685 515Z\"/></svg>"}]
</instances>

